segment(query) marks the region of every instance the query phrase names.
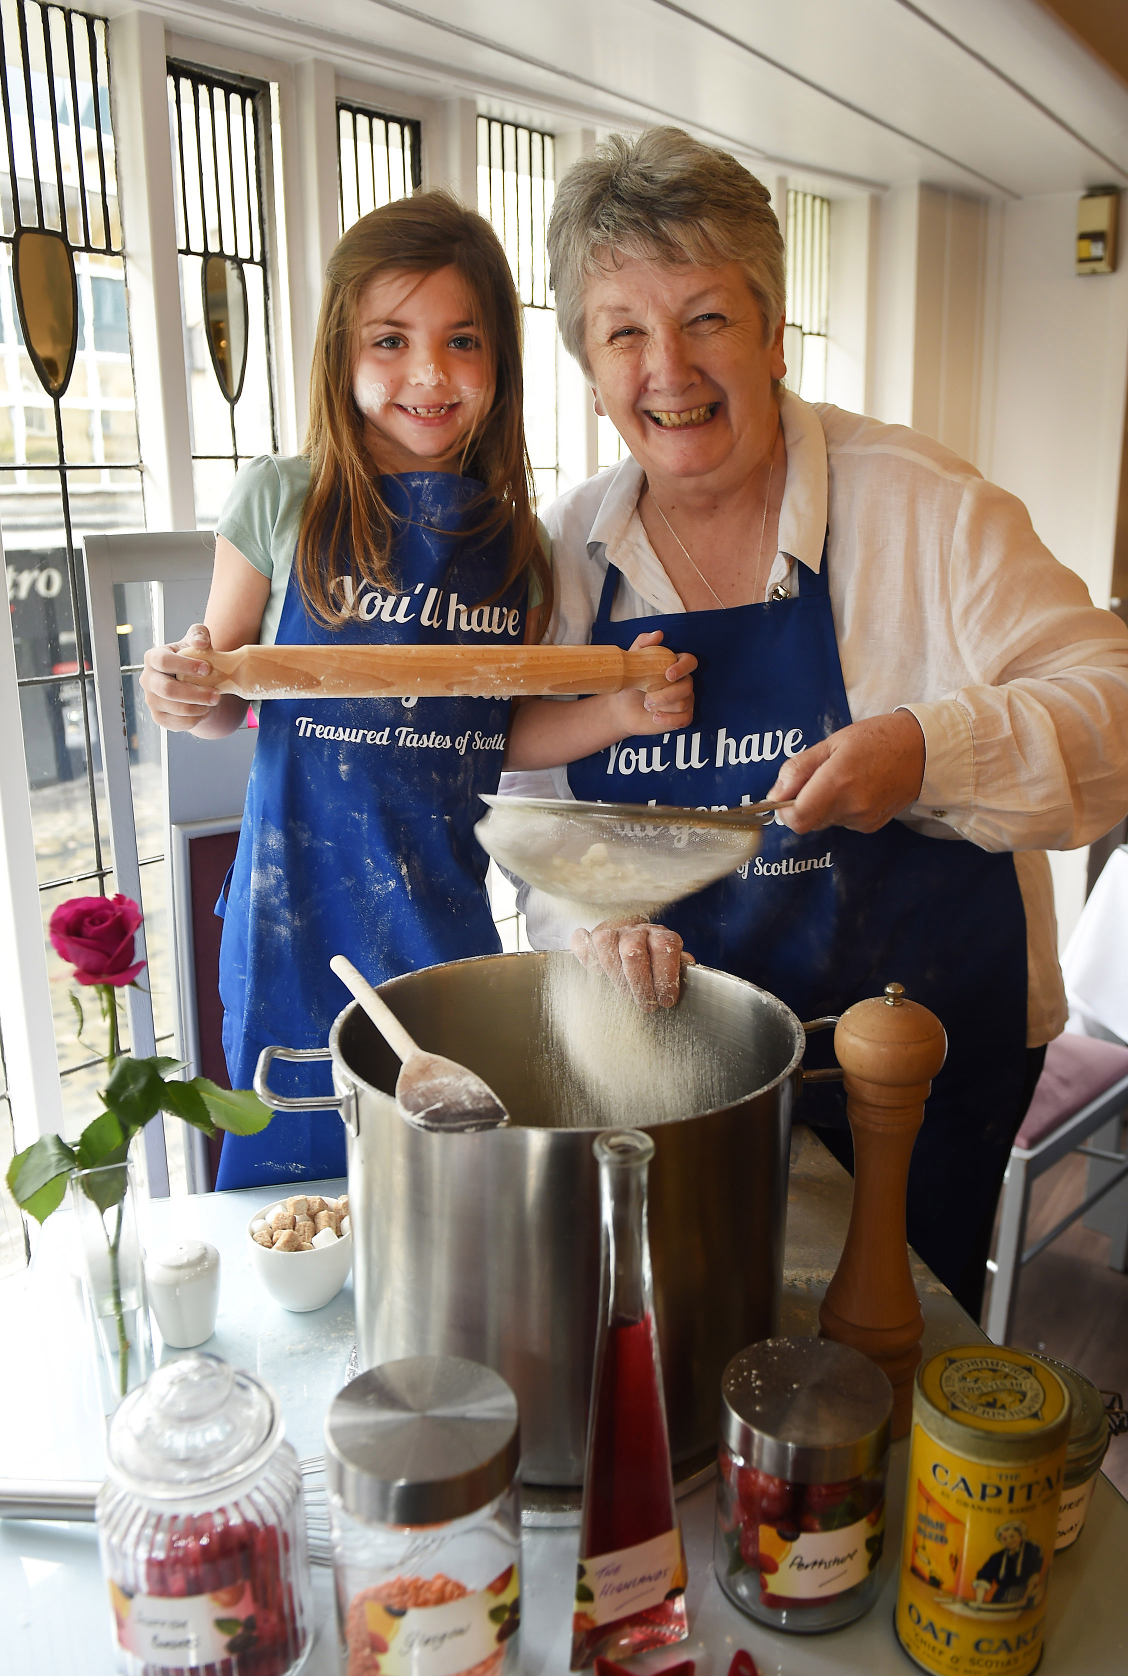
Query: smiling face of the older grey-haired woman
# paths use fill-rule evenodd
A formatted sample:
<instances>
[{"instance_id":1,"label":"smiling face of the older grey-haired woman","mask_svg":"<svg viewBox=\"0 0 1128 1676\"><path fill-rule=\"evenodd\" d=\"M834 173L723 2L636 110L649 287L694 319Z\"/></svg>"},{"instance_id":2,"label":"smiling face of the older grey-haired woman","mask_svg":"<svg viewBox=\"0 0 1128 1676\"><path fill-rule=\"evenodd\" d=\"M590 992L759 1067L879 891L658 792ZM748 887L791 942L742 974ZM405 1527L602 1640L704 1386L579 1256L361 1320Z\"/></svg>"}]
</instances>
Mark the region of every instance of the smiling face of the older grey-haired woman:
<instances>
[{"instance_id":1,"label":"smiling face of the older grey-haired woman","mask_svg":"<svg viewBox=\"0 0 1128 1676\"><path fill-rule=\"evenodd\" d=\"M776 434L783 322L764 320L736 261L627 258L585 285L585 347L605 412L652 483L702 491L744 481Z\"/></svg>"}]
</instances>

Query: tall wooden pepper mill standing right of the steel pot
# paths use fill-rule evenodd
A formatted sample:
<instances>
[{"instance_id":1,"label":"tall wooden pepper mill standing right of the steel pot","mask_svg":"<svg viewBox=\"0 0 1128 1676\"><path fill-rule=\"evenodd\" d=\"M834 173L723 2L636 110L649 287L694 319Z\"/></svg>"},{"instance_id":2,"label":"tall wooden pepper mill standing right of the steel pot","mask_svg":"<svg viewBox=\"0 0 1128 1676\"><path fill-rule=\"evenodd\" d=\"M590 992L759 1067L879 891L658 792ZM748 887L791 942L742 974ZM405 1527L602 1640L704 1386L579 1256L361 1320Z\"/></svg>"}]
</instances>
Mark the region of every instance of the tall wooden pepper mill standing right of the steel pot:
<instances>
[{"instance_id":1,"label":"tall wooden pepper mill standing right of the steel pot","mask_svg":"<svg viewBox=\"0 0 1128 1676\"><path fill-rule=\"evenodd\" d=\"M835 1279L818 1312L825 1337L853 1344L893 1386L893 1436L912 1418L924 1316L908 1269L908 1160L947 1037L935 1014L900 984L860 1001L835 1029L853 1131L853 1205Z\"/></svg>"}]
</instances>

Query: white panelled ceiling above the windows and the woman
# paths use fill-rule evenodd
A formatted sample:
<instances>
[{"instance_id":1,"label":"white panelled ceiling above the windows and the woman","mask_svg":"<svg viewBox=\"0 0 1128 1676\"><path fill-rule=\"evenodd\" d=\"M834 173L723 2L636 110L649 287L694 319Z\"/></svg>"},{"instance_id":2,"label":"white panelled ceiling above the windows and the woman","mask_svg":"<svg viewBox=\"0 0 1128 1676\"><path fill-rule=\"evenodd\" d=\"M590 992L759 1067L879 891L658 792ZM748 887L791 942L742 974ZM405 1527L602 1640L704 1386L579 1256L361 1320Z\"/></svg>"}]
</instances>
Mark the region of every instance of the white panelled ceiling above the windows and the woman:
<instances>
[{"instance_id":1,"label":"white panelled ceiling above the windows and the woman","mask_svg":"<svg viewBox=\"0 0 1128 1676\"><path fill-rule=\"evenodd\" d=\"M560 129L674 121L796 184L1128 184L1128 87L1036 0L156 0ZM121 10L112 3L109 10ZM764 173L769 171L768 168Z\"/></svg>"}]
</instances>

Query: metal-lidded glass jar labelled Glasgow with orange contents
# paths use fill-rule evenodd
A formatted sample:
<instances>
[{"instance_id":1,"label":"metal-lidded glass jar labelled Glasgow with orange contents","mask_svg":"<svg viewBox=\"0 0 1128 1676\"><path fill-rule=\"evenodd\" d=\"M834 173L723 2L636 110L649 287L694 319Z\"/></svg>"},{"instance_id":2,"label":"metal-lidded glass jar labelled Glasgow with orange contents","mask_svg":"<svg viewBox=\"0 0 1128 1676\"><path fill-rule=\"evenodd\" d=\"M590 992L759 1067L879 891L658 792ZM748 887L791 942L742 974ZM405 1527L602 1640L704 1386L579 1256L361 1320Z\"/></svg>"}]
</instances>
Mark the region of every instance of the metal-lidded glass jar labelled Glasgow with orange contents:
<instances>
[{"instance_id":1,"label":"metal-lidded glass jar labelled Glasgow with orange contents","mask_svg":"<svg viewBox=\"0 0 1128 1676\"><path fill-rule=\"evenodd\" d=\"M489 1368L412 1356L362 1373L325 1418L345 1676L518 1669L521 1443Z\"/></svg>"}]
</instances>

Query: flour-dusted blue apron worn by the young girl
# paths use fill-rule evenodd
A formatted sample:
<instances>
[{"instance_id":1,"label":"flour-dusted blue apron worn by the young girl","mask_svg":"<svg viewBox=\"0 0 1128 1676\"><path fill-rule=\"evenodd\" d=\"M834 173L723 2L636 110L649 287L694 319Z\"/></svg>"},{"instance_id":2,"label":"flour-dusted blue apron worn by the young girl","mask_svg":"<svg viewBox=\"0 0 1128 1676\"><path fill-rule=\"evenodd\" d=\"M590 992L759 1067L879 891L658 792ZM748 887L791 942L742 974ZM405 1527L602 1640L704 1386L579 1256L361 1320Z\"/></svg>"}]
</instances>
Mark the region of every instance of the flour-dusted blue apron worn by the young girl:
<instances>
[{"instance_id":1,"label":"flour-dusted blue apron worn by the young girl","mask_svg":"<svg viewBox=\"0 0 1128 1676\"><path fill-rule=\"evenodd\" d=\"M461 535L481 484L448 473L382 479L397 520L399 593L362 585L334 556L340 628L312 617L290 573L278 645L520 645L525 580L504 580L510 545ZM496 954L478 794L496 791L510 717L503 699L266 699L246 788L220 945L223 1049L250 1088L261 1049L323 1048L349 1001L329 970L347 955L372 982ZM329 1068L282 1066L278 1093L332 1093ZM277 1113L261 1135L223 1141L218 1188L345 1173L332 1111Z\"/></svg>"}]
</instances>

